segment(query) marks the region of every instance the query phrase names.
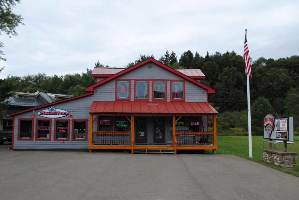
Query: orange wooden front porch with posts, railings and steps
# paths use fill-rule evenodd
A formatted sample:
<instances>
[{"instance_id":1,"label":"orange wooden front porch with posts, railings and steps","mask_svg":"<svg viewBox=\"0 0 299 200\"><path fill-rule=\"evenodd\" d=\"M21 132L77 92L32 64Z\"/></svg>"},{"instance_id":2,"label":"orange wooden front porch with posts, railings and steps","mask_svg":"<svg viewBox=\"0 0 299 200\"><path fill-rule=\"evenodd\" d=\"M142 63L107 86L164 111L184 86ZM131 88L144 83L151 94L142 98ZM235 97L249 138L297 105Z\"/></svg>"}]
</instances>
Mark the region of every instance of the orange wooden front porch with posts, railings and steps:
<instances>
[{"instance_id":1,"label":"orange wooden front porch with posts, railings and steps","mask_svg":"<svg viewBox=\"0 0 299 200\"><path fill-rule=\"evenodd\" d=\"M121 116L118 114L114 116ZM194 114L198 117L203 116L202 114ZM192 117L194 117L192 115ZM159 152L166 152L163 150L169 150L177 154L177 150L213 150L216 153L217 150L217 134L216 134L216 114L209 114L207 119L213 123L213 131L201 131L201 132L187 132L189 130L183 130L187 128L180 128L176 126L176 123L180 121L184 115L172 115L169 114L152 114L154 118L172 118L171 130L171 142L172 143L137 143L138 137L144 132L137 131L135 119L145 117L145 115L125 115L126 119L131 123L131 131L93 131L93 123L98 120L101 116L108 116L107 114L90 114L90 128L89 128L89 146L88 149L92 150L131 150L134 152L153 152L159 150ZM109 115L110 116L110 115ZM148 116L148 114L147 114ZM187 116L187 115L185 115ZM178 130L179 129L179 130ZM139 134L139 135L138 135ZM165 137L165 136L163 136ZM140 138L139 138L140 139ZM164 139L165 140L165 139ZM137 141L137 142L136 142ZM140 140L139 140L140 141ZM169 142L169 141L168 141Z\"/></svg>"}]
</instances>

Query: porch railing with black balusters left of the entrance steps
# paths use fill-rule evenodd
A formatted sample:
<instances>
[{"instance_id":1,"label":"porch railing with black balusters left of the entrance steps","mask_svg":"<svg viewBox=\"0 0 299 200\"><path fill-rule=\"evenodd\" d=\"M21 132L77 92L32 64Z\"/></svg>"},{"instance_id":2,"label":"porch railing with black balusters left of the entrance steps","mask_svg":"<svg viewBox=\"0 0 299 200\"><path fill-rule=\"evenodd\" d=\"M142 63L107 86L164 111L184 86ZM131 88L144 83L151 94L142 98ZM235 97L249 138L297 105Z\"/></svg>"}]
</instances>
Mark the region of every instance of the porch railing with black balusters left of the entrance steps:
<instances>
[{"instance_id":1,"label":"porch railing with black balusters left of the entrance steps","mask_svg":"<svg viewBox=\"0 0 299 200\"><path fill-rule=\"evenodd\" d=\"M131 132L93 131L92 145L131 145Z\"/></svg>"}]
</instances>

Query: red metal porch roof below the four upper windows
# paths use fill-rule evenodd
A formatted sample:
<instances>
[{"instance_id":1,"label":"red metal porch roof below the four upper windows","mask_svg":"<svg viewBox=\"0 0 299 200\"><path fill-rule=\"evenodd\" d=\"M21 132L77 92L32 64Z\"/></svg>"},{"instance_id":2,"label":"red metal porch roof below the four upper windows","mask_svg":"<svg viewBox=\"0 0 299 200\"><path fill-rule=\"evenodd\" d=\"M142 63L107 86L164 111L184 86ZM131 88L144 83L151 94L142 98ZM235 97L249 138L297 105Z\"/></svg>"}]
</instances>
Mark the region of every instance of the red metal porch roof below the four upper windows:
<instances>
[{"instance_id":1,"label":"red metal porch roof below the four upper windows","mask_svg":"<svg viewBox=\"0 0 299 200\"><path fill-rule=\"evenodd\" d=\"M218 113L207 102L93 101L89 113Z\"/></svg>"}]
</instances>

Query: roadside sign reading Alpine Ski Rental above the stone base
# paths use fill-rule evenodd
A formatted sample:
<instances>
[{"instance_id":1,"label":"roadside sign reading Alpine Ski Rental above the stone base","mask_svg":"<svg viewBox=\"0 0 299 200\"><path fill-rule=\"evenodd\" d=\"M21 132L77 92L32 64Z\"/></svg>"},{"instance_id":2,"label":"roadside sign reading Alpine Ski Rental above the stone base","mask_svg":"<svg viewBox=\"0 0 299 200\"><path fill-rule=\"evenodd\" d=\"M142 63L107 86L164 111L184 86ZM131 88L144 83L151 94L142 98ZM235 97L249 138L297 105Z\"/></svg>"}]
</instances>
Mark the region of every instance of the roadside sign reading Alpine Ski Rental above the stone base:
<instances>
[{"instance_id":1,"label":"roadside sign reading Alpine Ski Rental above the stone base","mask_svg":"<svg viewBox=\"0 0 299 200\"><path fill-rule=\"evenodd\" d=\"M263 126L265 139L294 141L293 117L278 117L276 114L267 114Z\"/></svg>"}]
</instances>

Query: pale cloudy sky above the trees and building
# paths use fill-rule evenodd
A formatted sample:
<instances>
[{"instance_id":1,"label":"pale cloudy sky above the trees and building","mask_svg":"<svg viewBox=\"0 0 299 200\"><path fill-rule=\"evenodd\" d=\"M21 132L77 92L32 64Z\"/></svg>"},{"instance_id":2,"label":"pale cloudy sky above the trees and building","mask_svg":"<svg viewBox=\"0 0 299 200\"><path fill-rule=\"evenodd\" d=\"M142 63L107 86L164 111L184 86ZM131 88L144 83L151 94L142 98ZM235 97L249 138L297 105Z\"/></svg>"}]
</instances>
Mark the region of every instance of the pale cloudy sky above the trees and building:
<instances>
[{"instance_id":1,"label":"pale cloudy sky above the trees and building","mask_svg":"<svg viewBox=\"0 0 299 200\"><path fill-rule=\"evenodd\" d=\"M243 55L299 55L299 1L77 1L21 0L13 12L26 26L2 33L6 62L0 78L86 72L99 61L124 67L140 54L158 60L166 50L205 56L234 50Z\"/></svg>"}]
</instances>

